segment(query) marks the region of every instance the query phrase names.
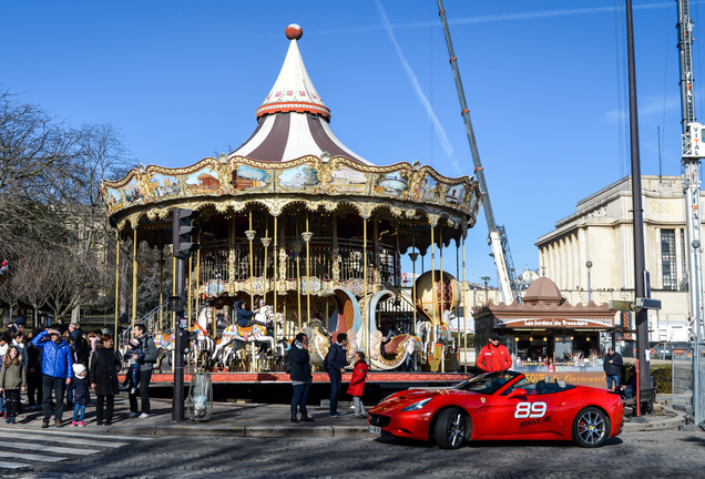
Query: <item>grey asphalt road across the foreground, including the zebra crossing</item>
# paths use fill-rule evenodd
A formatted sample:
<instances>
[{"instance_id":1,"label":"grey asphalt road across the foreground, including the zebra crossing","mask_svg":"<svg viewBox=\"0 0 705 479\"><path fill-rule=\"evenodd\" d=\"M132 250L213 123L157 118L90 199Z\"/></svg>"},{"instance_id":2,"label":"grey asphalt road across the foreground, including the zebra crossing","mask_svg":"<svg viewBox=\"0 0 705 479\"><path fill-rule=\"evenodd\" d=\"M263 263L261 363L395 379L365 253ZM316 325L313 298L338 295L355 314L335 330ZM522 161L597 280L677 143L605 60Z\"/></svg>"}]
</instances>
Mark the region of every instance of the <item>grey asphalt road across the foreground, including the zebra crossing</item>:
<instances>
[{"instance_id":1,"label":"grey asphalt road across the foreground, including the zebra crossing","mask_svg":"<svg viewBox=\"0 0 705 479\"><path fill-rule=\"evenodd\" d=\"M705 478L702 431L624 432L599 449L569 442L480 442L456 451L371 435L130 438L63 428L60 436L3 430L2 437L3 478ZM6 468L32 451L62 459L24 459L29 467Z\"/></svg>"}]
</instances>

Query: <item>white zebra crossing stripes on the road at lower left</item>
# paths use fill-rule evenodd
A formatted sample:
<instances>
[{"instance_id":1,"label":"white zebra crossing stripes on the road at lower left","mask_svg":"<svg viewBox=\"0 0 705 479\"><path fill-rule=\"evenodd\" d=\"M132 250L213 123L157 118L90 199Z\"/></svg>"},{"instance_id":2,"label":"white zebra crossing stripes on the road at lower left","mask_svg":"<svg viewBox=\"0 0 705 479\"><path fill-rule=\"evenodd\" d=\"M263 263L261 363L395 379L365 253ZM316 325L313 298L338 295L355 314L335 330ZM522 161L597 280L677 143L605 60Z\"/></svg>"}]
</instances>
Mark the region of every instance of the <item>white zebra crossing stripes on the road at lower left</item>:
<instances>
[{"instance_id":1,"label":"white zebra crossing stripes on the road at lower left","mask_svg":"<svg viewBox=\"0 0 705 479\"><path fill-rule=\"evenodd\" d=\"M0 428L3 458L0 470L25 469L41 462L59 462L75 456L91 456L129 444L150 441L142 436L119 436L82 431L43 431ZM10 440L8 438L11 438ZM31 452L28 452L31 451Z\"/></svg>"}]
</instances>

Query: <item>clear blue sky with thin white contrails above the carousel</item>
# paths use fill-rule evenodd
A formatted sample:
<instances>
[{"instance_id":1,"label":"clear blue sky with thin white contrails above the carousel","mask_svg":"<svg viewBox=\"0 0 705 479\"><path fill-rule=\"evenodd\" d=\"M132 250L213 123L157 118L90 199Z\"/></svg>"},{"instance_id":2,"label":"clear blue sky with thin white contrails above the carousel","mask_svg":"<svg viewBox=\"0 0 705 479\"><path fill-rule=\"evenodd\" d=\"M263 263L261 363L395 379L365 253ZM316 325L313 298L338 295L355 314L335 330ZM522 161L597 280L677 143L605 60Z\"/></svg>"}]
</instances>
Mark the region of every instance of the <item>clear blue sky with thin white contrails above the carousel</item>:
<instances>
[{"instance_id":1,"label":"clear blue sky with thin white contrails above the carousel","mask_svg":"<svg viewBox=\"0 0 705 479\"><path fill-rule=\"evenodd\" d=\"M447 0L494 216L514 264L591 193L629 173L624 2ZM695 20L696 115L702 1ZM0 86L59 119L112 123L134 162L185 166L255 129L288 48L299 49L331 128L376 164L472 174L433 0L3 2ZM634 1L642 172L680 174L676 3ZM495 272L484 217L468 279ZM454 249L447 268L454 271Z\"/></svg>"}]
</instances>

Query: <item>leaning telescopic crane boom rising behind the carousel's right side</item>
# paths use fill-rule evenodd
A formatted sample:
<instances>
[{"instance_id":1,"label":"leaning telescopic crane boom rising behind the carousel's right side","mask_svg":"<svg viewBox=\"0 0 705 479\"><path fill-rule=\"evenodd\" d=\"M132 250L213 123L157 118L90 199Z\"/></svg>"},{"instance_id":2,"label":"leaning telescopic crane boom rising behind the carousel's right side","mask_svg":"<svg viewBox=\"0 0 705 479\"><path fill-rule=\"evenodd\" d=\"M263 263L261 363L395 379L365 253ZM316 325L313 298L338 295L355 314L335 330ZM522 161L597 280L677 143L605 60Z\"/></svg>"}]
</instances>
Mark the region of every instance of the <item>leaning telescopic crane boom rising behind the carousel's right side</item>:
<instances>
[{"instance_id":1,"label":"leaning telescopic crane boom rising behind the carousel's right side","mask_svg":"<svg viewBox=\"0 0 705 479\"><path fill-rule=\"evenodd\" d=\"M494 213L492 213L492 203L490 202L490 193L487 188L484 181L484 170L482 162L480 161L480 153L478 152L478 144L474 140L474 130L472 129L472 122L470 120L470 110L468 109L468 102L466 101L466 93L462 88L462 81L460 80L460 70L458 70L458 59L453 49L452 40L450 39L450 29L448 28L448 20L446 18L446 10L443 9L442 0L438 0L438 14L441 18L443 24L443 32L446 33L446 43L448 44L448 54L450 55L450 65L453 70L453 77L456 79L456 89L458 90L458 98L460 100L460 108L462 109L462 119L466 123L466 132L468 133L468 141L470 143L470 153L472 155L472 162L474 163L474 174L480 184L480 190L484 193L482 201L482 208L484 211L484 217L487 220L487 226L490 232L489 244L492 247L491 256L494 259L494 266L497 267L497 275L499 279L500 297L504 304L511 304L514 298L519 297L519 287L517 283L517 275L514 265L512 262L511 252L509 249L509 241L507 238L507 232L504 226L498 225L494 222Z\"/></svg>"}]
</instances>

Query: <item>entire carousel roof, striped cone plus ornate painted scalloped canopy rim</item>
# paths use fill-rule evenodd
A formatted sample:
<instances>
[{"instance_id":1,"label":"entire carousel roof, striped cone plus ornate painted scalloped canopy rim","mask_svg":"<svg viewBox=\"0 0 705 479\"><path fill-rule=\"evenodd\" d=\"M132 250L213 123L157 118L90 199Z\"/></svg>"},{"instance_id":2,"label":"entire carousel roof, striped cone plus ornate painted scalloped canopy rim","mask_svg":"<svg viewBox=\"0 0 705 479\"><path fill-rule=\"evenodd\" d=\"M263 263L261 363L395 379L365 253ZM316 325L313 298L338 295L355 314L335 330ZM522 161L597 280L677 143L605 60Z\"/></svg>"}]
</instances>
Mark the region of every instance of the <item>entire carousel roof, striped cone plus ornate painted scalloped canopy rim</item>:
<instances>
[{"instance_id":1,"label":"entire carousel roof, striped cone plus ornate painted scalloped canopy rim","mask_svg":"<svg viewBox=\"0 0 705 479\"><path fill-rule=\"evenodd\" d=\"M467 175L447 177L418 162L375 165L346 147L330 131L330 110L304 67L300 27L289 26L287 38L286 59L257 109L249 140L229 155L180 167L141 165L121 180L103 180L111 223L119 231L140 224L140 234L146 235L171 228L174 207L226 213L256 204L277 216L304 202L308 211L354 208L365 218L380 212L406 223L413 234L401 235L402 251L425 251L428 225L439 222L445 243L459 241L478 217L483 196L478 182Z\"/></svg>"}]
</instances>

